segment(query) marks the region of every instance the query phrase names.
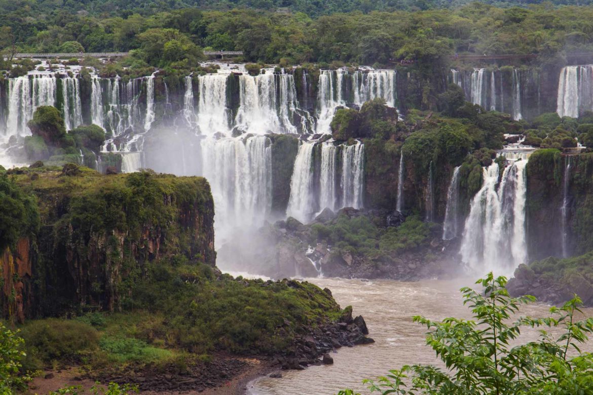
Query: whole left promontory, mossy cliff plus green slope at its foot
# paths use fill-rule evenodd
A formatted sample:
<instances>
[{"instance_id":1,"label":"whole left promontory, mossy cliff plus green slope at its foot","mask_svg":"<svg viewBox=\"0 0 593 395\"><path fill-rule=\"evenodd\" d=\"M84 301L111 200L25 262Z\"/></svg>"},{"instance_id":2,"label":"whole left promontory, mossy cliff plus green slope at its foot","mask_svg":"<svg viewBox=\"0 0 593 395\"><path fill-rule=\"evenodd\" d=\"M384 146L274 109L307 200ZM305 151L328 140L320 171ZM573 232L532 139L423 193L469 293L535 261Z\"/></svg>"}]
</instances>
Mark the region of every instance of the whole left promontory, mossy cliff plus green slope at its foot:
<instances>
[{"instance_id":1,"label":"whole left promontory, mossy cliff plus green slope at its foot","mask_svg":"<svg viewBox=\"0 0 593 395\"><path fill-rule=\"evenodd\" d=\"M204 388L245 367L217 352L300 355L295 338L342 317L307 282L221 274L203 178L37 163L2 169L0 200L0 300L25 341L23 371L74 364L139 383L168 372Z\"/></svg>"}]
</instances>

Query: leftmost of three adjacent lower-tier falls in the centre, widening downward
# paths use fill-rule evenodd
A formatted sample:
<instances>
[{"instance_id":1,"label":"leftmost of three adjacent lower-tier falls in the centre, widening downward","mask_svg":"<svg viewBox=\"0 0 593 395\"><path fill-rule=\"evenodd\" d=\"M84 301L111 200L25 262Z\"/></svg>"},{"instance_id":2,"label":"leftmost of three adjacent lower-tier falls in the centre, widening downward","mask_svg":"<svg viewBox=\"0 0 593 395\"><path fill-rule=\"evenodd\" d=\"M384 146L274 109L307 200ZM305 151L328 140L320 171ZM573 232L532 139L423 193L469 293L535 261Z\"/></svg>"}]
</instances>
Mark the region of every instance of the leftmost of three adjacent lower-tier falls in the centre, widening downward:
<instances>
[{"instance_id":1,"label":"leftmost of three adjacent lower-tier falls in the centre, widening downward","mask_svg":"<svg viewBox=\"0 0 593 395\"><path fill-rule=\"evenodd\" d=\"M291 194L286 216L302 223L311 220L315 213L313 196L313 148L314 144L302 142L298 148L291 177Z\"/></svg>"}]
</instances>

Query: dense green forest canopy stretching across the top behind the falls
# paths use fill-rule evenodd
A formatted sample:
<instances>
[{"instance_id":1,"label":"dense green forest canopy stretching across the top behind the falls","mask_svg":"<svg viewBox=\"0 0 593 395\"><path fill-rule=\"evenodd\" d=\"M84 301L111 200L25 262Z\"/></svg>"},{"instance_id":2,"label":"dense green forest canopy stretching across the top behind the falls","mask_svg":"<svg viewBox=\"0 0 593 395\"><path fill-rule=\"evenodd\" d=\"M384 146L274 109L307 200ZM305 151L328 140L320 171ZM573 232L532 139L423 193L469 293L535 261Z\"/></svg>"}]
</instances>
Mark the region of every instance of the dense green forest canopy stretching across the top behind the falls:
<instances>
[{"instance_id":1,"label":"dense green forest canopy stretching across the top behind the falls","mask_svg":"<svg viewBox=\"0 0 593 395\"><path fill-rule=\"evenodd\" d=\"M419 2L391 0L4 1L0 47L26 52L136 50L136 59L151 66L162 66L164 57L166 63L186 59L183 52L194 60L197 47L242 50L245 60L270 63L284 58L288 63L372 65L407 59L431 68L454 53L536 53L553 62L567 52L593 52L593 7L554 3L499 8L474 2L418 11ZM432 8L456 2L422 4ZM227 6L238 8L209 9ZM247 6L253 8L241 8ZM351 12L332 13L338 10Z\"/></svg>"}]
</instances>

